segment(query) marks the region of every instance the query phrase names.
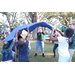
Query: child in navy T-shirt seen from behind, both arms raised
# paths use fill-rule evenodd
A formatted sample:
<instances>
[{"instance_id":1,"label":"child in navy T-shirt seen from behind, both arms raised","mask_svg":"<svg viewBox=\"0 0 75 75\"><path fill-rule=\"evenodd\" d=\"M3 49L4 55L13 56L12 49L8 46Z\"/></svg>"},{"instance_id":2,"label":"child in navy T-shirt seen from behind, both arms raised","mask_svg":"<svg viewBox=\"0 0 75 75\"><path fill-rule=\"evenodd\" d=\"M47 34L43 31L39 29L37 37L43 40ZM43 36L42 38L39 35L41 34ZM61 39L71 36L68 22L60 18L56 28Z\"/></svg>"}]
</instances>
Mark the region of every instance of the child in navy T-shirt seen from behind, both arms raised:
<instances>
[{"instance_id":1,"label":"child in navy T-shirt seen from behind, both arms raised","mask_svg":"<svg viewBox=\"0 0 75 75\"><path fill-rule=\"evenodd\" d=\"M19 62L29 62L29 57L28 57L28 45L29 45L29 27L27 27L28 31L28 36L26 42L24 42L23 38L20 38L18 40L17 38L17 33L19 30L16 32L16 46L19 50Z\"/></svg>"}]
</instances>

